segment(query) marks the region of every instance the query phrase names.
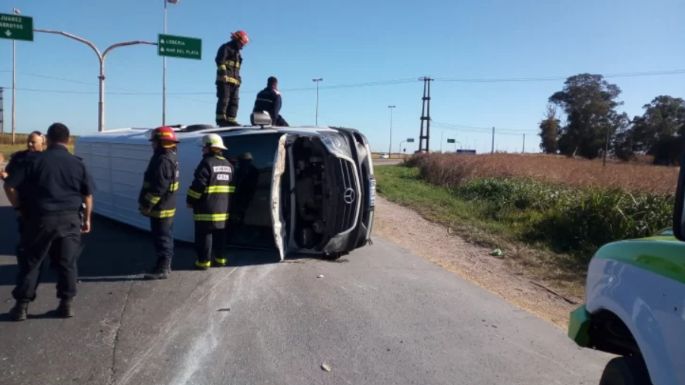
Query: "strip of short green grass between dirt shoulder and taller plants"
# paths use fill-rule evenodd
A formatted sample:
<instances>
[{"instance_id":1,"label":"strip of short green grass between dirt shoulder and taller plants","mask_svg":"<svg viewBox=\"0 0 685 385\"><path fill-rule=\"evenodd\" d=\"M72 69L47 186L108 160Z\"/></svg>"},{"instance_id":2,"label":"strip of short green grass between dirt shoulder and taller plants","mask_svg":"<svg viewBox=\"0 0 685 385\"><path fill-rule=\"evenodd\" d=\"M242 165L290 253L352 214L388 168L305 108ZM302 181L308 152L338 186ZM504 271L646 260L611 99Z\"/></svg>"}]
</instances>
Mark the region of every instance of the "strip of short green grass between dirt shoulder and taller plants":
<instances>
[{"instance_id":1,"label":"strip of short green grass between dirt shoulder and taller plants","mask_svg":"<svg viewBox=\"0 0 685 385\"><path fill-rule=\"evenodd\" d=\"M544 282L562 295L581 298L586 264L577 256L551 251L543 243L523 242L520 223L534 220L535 213L520 217L492 217L492 207L467 199L448 187L423 181L415 167L376 167L377 188L386 199L411 208L424 218L447 226L465 240L503 251L514 274ZM517 225L519 224L519 225Z\"/></svg>"}]
</instances>

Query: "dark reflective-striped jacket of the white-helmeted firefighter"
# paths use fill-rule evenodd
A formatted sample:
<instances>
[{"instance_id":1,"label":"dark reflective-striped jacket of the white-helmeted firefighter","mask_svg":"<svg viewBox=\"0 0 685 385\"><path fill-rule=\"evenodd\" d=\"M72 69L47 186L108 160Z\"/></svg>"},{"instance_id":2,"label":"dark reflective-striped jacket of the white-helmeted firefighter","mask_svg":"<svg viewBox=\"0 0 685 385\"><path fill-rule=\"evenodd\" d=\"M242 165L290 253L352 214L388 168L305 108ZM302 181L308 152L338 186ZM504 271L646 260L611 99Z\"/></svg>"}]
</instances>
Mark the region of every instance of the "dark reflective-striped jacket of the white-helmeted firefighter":
<instances>
[{"instance_id":1,"label":"dark reflective-striped jacket of the white-helmeted firefighter","mask_svg":"<svg viewBox=\"0 0 685 385\"><path fill-rule=\"evenodd\" d=\"M186 202L193 207L195 223L223 229L228 220L228 197L233 192L233 166L219 154L205 154L195 169Z\"/></svg>"}]
</instances>

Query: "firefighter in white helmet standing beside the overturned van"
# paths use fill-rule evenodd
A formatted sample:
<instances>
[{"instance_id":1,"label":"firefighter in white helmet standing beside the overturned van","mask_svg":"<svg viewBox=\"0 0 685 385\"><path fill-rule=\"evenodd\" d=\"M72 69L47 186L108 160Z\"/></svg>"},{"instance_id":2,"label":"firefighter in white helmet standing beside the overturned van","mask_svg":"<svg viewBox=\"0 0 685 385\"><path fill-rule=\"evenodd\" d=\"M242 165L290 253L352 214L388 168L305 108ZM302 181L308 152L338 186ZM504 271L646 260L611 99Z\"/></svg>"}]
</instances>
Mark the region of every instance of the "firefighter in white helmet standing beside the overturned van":
<instances>
[{"instance_id":1,"label":"firefighter in white helmet standing beside the overturned van","mask_svg":"<svg viewBox=\"0 0 685 385\"><path fill-rule=\"evenodd\" d=\"M202 137L202 161L195 169L186 197L195 221L195 267L202 270L212 266L212 259L214 266L228 263L224 249L233 166L223 157L223 150L226 147L219 135Z\"/></svg>"}]
</instances>

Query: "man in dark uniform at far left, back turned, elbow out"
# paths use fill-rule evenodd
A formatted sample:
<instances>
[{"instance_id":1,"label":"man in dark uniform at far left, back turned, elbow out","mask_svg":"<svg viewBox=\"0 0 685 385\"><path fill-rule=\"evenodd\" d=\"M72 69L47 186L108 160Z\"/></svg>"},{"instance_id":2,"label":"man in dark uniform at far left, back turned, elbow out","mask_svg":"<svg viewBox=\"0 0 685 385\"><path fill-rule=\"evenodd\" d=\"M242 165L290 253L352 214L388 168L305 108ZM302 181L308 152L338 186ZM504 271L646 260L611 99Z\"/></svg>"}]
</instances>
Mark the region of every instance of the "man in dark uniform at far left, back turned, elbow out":
<instances>
[{"instance_id":1,"label":"man in dark uniform at far left, back turned, elbow out","mask_svg":"<svg viewBox=\"0 0 685 385\"><path fill-rule=\"evenodd\" d=\"M19 258L17 286L12 291L16 304L10 310L15 321L26 319L28 304L36 297L43 259L49 255L57 270L57 315L73 317L76 295L77 258L81 234L91 230L93 183L81 159L69 153L69 129L53 123L47 133L48 149L36 154L10 174L5 192L19 215L26 215L25 236ZM17 190L29 185L28 199L19 200ZM29 205L19 207L19 204ZM85 205L84 217L80 216Z\"/></svg>"}]
</instances>

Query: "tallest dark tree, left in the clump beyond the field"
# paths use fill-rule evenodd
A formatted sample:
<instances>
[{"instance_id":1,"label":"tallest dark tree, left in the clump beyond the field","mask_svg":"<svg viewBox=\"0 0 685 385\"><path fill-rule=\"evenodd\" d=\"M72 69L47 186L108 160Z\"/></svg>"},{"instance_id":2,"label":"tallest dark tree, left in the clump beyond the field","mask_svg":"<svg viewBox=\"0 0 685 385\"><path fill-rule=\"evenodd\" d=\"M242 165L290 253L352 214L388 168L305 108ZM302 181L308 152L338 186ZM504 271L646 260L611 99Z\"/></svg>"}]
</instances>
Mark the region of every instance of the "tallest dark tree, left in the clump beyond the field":
<instances>
[{"instance_id":1,"label":"tallest dark tree, left in the clump beyond the field","mask_svg":"<svg viewBox=\"0 0 685 385\"><path fill-rule=\"evenodd\" d=\"M607 138L612 138L621 121L614 108L621 90L602 75L579 74L566 79L564 89L549 98L566 112L558 145L565 155L599 156Z\"/></svg>"}]
</instances>

